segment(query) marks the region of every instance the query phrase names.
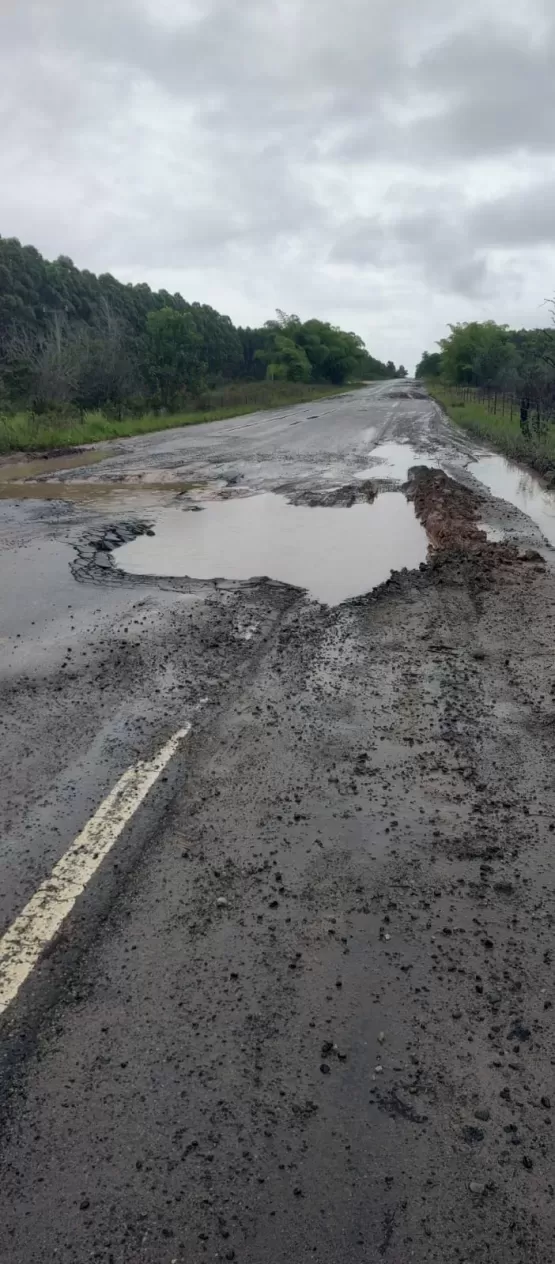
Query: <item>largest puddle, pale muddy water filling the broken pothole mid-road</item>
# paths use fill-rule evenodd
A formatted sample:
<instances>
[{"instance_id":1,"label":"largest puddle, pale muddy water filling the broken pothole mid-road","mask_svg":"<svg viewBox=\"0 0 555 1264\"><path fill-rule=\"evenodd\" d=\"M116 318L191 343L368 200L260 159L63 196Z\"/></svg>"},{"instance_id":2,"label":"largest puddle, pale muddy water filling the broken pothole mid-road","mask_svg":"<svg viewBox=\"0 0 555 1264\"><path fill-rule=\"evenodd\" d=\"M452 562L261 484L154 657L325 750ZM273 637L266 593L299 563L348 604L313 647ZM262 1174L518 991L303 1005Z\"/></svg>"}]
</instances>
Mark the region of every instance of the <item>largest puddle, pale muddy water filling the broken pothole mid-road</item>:
<instances>
[{"instance_id":1,"label":"largest puddle, pale muddy water filling the broken pothole mid-road","mask_svg":"<svg viewBox=\"0 0 555 1264\"><path fill-rule=\"evenodd\" d=\"M163 511L154 536L113 554L133 575L247 580L269 576L335 605L392 570L425 561L427 537L401 492L350 509L290 504L272 492L209 502L202 513Z\"/></svg>"}]
</instances>

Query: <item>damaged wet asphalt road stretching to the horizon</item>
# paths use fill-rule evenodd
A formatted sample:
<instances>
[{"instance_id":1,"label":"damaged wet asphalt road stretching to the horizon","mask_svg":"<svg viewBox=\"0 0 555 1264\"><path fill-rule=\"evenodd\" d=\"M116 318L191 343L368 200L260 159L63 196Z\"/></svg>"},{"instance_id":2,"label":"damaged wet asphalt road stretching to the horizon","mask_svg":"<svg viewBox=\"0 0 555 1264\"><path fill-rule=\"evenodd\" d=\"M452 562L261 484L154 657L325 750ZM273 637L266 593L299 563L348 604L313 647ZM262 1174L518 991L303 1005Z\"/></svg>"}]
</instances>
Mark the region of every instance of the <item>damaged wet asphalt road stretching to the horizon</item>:
<instances>
[{"instance_id":1,"label":"damaged wet asphalt road stretching to the horizon","mask_svg":"<svg viewBox=\"0 0 555 1264\"><path fill-rule=\"evenodd\" d=\"M413 383L94 455L13 466L33 482L0 497L3 1264L544 1264L534 509ZM407 499L410 465L456 487L429 503L417 474ZM300 555L311 513L340 540L368 521L354 569L321 536L349 599L288 583L279 537L265 578L187 573L197 522L260 493L301 514ZM411 504L449 546L368 592ZM461 544L478 518L504 542ZM162 530L178 575L140 573Z\"/></svg>"}]
</instances>

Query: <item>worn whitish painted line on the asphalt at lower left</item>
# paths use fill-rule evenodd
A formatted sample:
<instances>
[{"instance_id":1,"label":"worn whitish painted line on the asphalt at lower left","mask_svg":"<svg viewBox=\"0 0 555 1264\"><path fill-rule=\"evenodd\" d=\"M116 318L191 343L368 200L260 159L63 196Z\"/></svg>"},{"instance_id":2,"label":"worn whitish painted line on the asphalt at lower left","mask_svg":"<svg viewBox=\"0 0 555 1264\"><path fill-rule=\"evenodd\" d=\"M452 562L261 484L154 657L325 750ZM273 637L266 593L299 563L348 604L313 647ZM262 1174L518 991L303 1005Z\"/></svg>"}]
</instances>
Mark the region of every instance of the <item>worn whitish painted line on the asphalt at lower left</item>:
<instances>
[{"instance_id":1,"label":"worn whitish painted line on the asphalt at lower left","mask_svg":"<svg viewBox=\"0 0 555 1264\"><path fill-rule=\"evenodd\" d=\"M44 948L58 933L87 882L176 753L191 724L180 728L152 760L120 776L95 815L0 939L0 1015L16 997Z\"/></svg>"}]
</instances>

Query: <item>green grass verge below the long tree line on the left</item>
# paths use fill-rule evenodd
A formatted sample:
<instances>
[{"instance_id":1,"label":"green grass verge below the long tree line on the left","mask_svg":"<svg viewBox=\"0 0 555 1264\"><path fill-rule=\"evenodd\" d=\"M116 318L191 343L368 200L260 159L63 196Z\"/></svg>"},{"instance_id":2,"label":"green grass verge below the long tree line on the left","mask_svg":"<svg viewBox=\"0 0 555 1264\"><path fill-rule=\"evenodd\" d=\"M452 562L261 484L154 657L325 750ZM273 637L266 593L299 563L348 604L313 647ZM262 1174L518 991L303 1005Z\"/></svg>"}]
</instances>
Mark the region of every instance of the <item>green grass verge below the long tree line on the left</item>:
<instances>
[{"instance_id":1,"label":"green grass verge below the long tree line on the left","mask_svg":"<svg viewBox=\"0 0 555 1264\"><path fill-rule=\"evenodd\" d=\"M359 382L343 387L311 387L295 382L236 383L223 391L210 392L206 407L196 412L167 416L152 412L142 417L126 417L123 421L106 417L101 412L85 413L82 421L77 418L42 420L24 412L13 416L0 415L0 454L78 447L81 444L148 435L152 431L171 430L174 426L223 421L225 417L240 417L249 412L258 412L259 408L283 408L293 403L310 403L312 399L344 394L345 391L353 391L359 386L362 386Z\"/></svg>"}]
</instances>

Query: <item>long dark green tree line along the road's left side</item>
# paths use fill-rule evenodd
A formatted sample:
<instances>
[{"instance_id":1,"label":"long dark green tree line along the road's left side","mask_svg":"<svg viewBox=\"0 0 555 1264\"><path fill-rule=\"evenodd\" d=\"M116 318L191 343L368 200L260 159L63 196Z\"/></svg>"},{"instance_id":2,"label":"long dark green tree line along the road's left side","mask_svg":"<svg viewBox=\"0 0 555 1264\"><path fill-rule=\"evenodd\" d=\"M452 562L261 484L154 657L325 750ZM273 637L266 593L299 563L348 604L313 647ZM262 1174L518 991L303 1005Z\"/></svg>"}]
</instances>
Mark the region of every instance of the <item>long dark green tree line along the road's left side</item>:
<instances>
[{"instance_id":1,"label":"long dark green tree line along the road's left side","mask_svg":"<svg viewBox=\"0 0 555 1264\"><path fill-rule=\"evenodd\" d=\"M0 236L0 408L123 416L195 404L234 380L332 383L405 377L358 335L277 312L236 327L207 303L95 276Z\"/></svg>"}]
</instances>

